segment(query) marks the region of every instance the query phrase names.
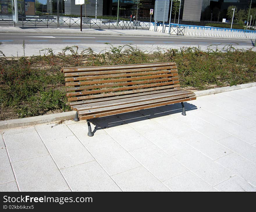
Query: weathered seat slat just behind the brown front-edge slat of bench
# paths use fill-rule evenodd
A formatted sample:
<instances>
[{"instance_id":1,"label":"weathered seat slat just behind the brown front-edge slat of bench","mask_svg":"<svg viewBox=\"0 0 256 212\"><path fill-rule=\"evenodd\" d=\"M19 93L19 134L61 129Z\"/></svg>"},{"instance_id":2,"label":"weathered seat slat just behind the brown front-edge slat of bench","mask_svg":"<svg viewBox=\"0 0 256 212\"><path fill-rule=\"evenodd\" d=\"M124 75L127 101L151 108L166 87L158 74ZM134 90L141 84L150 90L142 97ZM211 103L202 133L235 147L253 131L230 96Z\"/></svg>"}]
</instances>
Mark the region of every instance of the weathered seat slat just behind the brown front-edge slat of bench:
<instances>
[{"instance_id":1,"label":"weathered seat slat just behind the brown front-edge slat of bench","mask_svg":"<svg viewBox=\"0 0 256 212\"><path fill-rule=\"evenodd\" d=\"M189 94L178 95L178 96L167 97L167 98L162 98L162 99L154 99L154 100L148 100L148 101L143 101L143 102L102 107L102 108L96 108L96 109L92 108L92 109L86 109L86 110L78 110L78 114L79 115L95 114L95 113L99 113L99 112L106 112L106 111L111 111L111 110L119 110L119 109L125 109L125 108L129 108L129 107L138 107L138 106L142 106L142 105L151 105L151 104L156 104L156 103L160 103L160 102L168 102L168 101L173 101L173 100L177 100L177 99L190 98L192 96L195 96L195 94L192 93L191 95L189 95Z\"/></svg>"}]
</instances>

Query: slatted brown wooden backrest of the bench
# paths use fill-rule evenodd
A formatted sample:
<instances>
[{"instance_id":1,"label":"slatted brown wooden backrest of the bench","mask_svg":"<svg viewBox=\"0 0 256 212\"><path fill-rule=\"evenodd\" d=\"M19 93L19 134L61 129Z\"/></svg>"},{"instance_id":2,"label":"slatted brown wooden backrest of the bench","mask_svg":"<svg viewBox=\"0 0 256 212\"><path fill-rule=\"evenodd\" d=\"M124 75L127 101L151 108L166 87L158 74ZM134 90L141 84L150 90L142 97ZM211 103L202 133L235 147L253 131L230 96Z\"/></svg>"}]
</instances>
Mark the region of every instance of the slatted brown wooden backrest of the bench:
<instances>
[{"instance_id":1,"label":"slatted brown wooden backrest of the bench","mask_svg":"<svg viewBox=\"0 0 256 212\"><path fill-rule=\"evenodd\" d=\"M90 99L180 87L175 62L69 67L61 71L71 106Z\"/></svg>"}]
</instances>

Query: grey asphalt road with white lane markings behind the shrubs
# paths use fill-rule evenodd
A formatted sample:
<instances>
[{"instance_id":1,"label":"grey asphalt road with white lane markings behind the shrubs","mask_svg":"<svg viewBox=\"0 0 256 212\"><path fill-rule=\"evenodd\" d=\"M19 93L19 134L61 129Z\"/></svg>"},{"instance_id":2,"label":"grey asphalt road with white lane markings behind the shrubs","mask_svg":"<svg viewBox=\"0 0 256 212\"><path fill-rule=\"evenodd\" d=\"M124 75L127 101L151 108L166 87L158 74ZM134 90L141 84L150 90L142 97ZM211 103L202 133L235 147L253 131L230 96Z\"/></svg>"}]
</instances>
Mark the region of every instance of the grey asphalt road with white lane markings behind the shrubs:
<instances>
[{"instance_id":1,"label":"grey asphalt road with white lane markings behind the shrubs","mask_svg":"<svg viewBox=\"0 0 256 212\"><path fill-rule=\"evenodd\" d=\"M54 35L54 34L19 34L0 33L2 44L171 44L171 45L217 45L233 44L253 46L254 41L222 38L187 38L187 37L152 37L152 36L117 36L117 35Z\"/></svg>"}]
</instances>

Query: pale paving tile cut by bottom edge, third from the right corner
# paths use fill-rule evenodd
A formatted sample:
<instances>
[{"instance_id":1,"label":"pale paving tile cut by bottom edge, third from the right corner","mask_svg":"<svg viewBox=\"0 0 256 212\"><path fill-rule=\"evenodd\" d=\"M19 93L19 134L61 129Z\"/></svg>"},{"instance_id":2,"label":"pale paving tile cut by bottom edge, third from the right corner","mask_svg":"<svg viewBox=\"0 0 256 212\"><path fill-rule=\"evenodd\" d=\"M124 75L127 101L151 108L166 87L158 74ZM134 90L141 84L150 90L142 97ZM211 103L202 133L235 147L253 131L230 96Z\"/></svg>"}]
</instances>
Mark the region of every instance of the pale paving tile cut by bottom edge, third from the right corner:
<instances>
[{"instance_id":1,"label":"pale paving tile cut by bottom edge, third from the right corner","mask_svg":"<svg viewBox=\"0 0 256 212\"><path fill-rule=\"evenodd\" d=\"M142 166L113 175L112 179L122 191L170 191Z\"/></svg>"}]
</instances>

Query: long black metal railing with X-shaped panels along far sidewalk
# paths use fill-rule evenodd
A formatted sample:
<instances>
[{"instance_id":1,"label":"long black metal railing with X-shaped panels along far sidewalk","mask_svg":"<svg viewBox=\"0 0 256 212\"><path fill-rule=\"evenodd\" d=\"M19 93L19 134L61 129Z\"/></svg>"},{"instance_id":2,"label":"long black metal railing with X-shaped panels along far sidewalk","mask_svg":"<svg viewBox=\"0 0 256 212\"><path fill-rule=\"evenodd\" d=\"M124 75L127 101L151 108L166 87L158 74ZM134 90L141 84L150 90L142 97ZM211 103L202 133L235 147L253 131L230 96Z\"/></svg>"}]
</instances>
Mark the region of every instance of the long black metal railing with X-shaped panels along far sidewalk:
<instances>
[{"instance_id":1,"label":"long black metal railing with X-shaped panels along far sidewalk","mask_svg":"<svg viewBox=\"0 0 256 212\"><path fill-rule=\"evenodd\" d=\"M6 16L0 19L0 25L13 26L12 17ZM26 16L19 17L18 23L15 26L22 27L50 27L57 28L57 16ZM59 17L59 26L61 28L80 28L80 17ZM92 19L83 18L82 28L96 28L96 29L145 29L149 30L150 23L143 21L117 21L109 19Z\"/></svg>"}]
</instances>

